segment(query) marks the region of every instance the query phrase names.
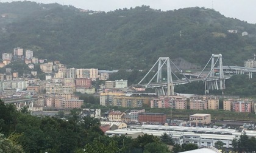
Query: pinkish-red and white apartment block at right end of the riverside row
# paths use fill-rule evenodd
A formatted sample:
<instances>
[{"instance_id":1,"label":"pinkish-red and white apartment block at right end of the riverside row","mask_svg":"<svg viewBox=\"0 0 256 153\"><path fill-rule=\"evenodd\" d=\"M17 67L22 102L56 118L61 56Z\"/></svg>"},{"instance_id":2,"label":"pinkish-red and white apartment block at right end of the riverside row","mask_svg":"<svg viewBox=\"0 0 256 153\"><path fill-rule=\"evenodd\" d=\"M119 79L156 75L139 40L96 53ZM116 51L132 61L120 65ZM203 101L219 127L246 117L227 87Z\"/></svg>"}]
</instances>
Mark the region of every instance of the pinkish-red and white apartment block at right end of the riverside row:
<instances>
[{"instance_id":1,"label":"pinkish-red and white apartment block at right end of the riverside row","mask_svg":"<svg viewBox=\"0 0 256 153\"><path fill-rule=\"evenodd\" d=\"M233 101L232 109L234 112L252 112L252 104L248 101Z\"/></svg>"}]
</instances>

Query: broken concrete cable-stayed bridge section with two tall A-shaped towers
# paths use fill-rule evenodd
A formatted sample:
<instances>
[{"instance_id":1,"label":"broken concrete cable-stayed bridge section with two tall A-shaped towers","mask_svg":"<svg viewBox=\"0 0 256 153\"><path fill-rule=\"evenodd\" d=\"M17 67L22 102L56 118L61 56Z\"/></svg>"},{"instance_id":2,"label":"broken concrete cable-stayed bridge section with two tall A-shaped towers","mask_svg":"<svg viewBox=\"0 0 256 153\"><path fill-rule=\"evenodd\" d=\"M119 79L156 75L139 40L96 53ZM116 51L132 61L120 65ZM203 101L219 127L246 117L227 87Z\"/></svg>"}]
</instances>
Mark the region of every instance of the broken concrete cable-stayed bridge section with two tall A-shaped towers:
<instances>
[{"instance_id":1,"label":"broken concrete cable-stayed bridge section with two tall A-shaped towers","mask_svg":"<svg viewBox=\"0 0 256 153\"><path fill-rule=\"evenodd\" d=\"M207 72L206 75L202 75L208 64L211 63L211 69L210 72ZM219 66L216 67L217 63L219 62ZM179 71L180 74L183 75L183 79L180 80L179 77L174 73L174 71L171 70L171 63L172 65ZM148 83L143 83L145 81L146 77L148 77L149 73L155 72L153 69L158 64L157 72L155 73L154 77L151 78L151 80ZM166 74L163 78L163 72L162 69L166 68ZM219 75L215 75L215 69L218 69ZM227 69L227 67L225 67ZM226 88L225 81L226 79L229 79L232 77L232 75L224 75L224 67L222 66L222 55L213 54L208 61L208 63L205 65L204 69L197 75L196 78L187 78L184 73L168 58L168 57L160 57L158 58L157 62L154 64L154 66L151 67L148 73L141 79L141 81L135 85L137 87L145 87L145 88L154 88L156 95L174 95L174 87L179 84L187 84L192 83L194 81L204 81L205 84L205 94L209 93L210 90L222 90ZM256 71L255 71L256 72ZM174 75L177 80L172 80L172 75ZM156 78L156 80L155 80ZM155 81L153 81L155 80Z\"/></svg>"}]
</instances>

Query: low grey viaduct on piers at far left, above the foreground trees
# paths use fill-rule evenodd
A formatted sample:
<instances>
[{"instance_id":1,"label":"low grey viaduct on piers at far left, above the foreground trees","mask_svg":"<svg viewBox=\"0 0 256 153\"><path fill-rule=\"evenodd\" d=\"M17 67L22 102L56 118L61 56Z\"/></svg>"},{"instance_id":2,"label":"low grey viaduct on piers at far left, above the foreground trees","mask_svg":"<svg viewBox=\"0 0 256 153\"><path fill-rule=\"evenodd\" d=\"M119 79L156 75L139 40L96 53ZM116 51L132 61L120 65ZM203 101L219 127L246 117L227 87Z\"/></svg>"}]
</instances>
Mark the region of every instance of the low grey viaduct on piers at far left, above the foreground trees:
<instances>
[{"instance_id":1,"label":"low grey viaduct on piers at far left, above the foreground trees","mask_svg":"<svg viewBox=\"0 0 256 153\"><path fill-rule=\"evenodd\" d=\"M31 98L7 98L3 99L5 104L15 104L16 109L20 110L21 107L27 106L28 110L33 110L34 102L37 101L37 97Z\"/></svg>"}]
</instances>

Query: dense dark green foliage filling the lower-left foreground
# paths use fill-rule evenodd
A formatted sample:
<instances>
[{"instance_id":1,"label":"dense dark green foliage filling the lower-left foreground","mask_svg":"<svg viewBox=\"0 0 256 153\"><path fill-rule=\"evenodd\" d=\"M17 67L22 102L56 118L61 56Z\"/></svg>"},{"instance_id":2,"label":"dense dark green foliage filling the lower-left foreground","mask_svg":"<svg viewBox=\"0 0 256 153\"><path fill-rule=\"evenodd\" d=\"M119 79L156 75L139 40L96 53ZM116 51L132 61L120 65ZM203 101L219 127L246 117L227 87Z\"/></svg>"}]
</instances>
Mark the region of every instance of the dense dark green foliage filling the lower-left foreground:
<instances>
[{"instance_id":1,"label":"dense dark green foliage filling the lower-left foreground","mask_svg":"<svg viewBox=\"0 0 256 153\"><path fill-rule=\"evenodd\" d=\"M0 112L0 152L171 152L166 144L172 138L166 135L161 140L147 134L136 139L108 137L99 129L98 119L80 117L77 109L66 120L36 117L0 100Z\"/></svg>"}]
</instances>

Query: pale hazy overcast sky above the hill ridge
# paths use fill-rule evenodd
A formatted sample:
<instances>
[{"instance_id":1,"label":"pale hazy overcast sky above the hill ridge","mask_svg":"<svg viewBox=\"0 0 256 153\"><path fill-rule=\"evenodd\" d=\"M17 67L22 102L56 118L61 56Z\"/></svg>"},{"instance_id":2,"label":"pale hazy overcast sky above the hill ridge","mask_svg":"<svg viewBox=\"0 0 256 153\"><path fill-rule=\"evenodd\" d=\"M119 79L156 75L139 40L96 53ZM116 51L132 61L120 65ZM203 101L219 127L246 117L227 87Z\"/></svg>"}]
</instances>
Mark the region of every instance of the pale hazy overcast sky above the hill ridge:
<instances>
[{"instance_id":1,"label":"pale hazy overcast sky above the hill ridge","mask_svg":"<svg viewBox=\"0 0 256 153\"><path fill-rule=\"evenodd\" d=\"M6 0L0 0L7 2ZM13 0L15 1L15 0ZM27 0L28 1L28 0ZM185 7L215 9L222 15L256 24L256 0L31 0L40 3L73 5L80 9L110 10L150 5L152 9L174 10ZM11 2L11 0L8 0Z\"/></svg>"}]
</instances>

